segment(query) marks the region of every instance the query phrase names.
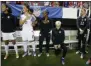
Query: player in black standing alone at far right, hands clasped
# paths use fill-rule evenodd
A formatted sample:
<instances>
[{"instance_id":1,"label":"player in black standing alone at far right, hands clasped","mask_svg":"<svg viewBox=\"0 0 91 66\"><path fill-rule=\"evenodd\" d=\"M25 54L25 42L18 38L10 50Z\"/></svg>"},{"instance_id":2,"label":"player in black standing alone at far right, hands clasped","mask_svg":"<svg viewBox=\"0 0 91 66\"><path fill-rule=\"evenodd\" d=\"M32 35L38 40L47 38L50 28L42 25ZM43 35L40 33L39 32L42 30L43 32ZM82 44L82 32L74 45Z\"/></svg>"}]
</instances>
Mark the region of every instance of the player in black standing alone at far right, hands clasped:
<instances>
[{"instance_id":1,"label":"player in black standing alone at far right, hands clasped","mask_svg":"<svg viewBox=\"0 0 91 66\"><path fill-rule=\"evenodd\" d=\"M89 20L86 16L86 10L84 8L81 9L81 16L77 18L77 29L78 29L78 48L76 54L81 52L80 58L83 58L85 55L85 47L86 47L86 36L87 36L87 28L89 26Z\"/></svg>"}]
</instances>

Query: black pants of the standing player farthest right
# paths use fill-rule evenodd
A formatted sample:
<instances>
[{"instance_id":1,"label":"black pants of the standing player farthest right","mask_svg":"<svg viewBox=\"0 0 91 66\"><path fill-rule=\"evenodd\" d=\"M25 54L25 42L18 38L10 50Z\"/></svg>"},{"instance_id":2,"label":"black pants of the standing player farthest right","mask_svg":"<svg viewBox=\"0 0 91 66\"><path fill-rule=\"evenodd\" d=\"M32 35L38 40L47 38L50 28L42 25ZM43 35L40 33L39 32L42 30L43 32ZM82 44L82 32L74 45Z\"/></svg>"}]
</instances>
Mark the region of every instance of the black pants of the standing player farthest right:
<instances>
[{"instance_id":1,"label":"black pants of the standing player farthest right","mask_svg":"<svg viewBox=\"0 0 91 66\"><path fill-rule=\"evenodd\" d=\"M86 34L79 34L77 50L85 54L85 48L86 48Z\"/></svg>"}]
</instances>

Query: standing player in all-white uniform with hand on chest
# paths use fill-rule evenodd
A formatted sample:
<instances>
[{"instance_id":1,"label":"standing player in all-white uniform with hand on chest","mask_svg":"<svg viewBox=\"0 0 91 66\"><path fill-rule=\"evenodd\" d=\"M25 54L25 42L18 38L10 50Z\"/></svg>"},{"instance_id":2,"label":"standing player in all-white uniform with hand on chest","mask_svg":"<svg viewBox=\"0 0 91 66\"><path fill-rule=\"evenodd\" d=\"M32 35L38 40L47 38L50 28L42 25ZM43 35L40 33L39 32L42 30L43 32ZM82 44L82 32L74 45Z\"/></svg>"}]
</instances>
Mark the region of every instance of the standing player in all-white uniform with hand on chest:
<instances>
[{"instance_id":1,"label":"standing player in all-white uniform with hand on chest","mask_svg":"<svg viewBox=\"0 0 91 66\"><path fill-rule=\"evenodd\" d=\"M22 26L21 35L22 35L22 40L25 43L23 45L23 47L24 47L24 54L23 54L22 57L25 57L27 54L31 55L31 53L29 52L29 46L27 46L27 45L31 41L34 40L33 25L32 25L32 23L35 20L36 19L32 17L29 5L24 4L23 5L23 14L21 15L21 18L20 18L20 25ZM33 48L33 55L36 56L35 45L34 44L32 45L32 48Z\"/></svg>"}]
</instances>

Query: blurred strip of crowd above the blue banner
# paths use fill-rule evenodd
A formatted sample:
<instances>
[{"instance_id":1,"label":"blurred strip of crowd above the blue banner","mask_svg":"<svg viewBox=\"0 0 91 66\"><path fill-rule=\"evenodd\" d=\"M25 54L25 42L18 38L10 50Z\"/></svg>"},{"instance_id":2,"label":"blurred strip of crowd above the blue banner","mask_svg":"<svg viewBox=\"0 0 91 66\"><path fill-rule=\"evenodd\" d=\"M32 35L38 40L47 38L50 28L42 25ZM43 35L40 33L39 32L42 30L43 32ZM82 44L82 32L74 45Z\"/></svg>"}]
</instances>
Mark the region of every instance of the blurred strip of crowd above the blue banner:
<instances>
[{"instance_id":1,"label":"blurred strip of crowd above the blue banner","mask_svg":"<svg viewBox=\"0 0 91 66\"><path fill-rule=\"evenodd\" d=\"M50 7L67 7L67 8L89 8L91 2L89 1L7 1L10 4L24 4L28 3L30 6L50 6Z\"/></svg>"}]
</instances>

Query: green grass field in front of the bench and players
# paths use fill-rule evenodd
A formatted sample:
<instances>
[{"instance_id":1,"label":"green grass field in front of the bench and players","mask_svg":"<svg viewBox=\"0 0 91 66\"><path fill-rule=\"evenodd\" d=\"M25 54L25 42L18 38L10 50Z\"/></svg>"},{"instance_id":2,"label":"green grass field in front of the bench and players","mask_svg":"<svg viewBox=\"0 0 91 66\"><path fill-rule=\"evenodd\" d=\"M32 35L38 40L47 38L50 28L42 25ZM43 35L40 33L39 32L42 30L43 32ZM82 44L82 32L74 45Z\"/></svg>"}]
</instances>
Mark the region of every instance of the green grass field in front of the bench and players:
<instances>
[{"instance_id":1,"label":"green grass field in front of the bench and players","mask_svg":"<svg viewBox=\"0 0 91 66\"><path fill-rule=\"evenodd\" d=\"M89 53L86 55L85 59L80 59L80 55L75 54L75 50L68 50L67 56L65 58L66 64L64 66L86 66L86 61L91 57L91 47L88 49ZM55 56L53 50L50 50L50 56L47 57L45 53L41 57L26 56L16 59L15 54L10 54L8 59L4 60L4 54L1 56L1 66L62 66L60 63L60 57Z\"/></svg>"}]
</instances>

